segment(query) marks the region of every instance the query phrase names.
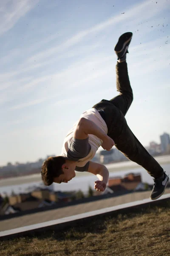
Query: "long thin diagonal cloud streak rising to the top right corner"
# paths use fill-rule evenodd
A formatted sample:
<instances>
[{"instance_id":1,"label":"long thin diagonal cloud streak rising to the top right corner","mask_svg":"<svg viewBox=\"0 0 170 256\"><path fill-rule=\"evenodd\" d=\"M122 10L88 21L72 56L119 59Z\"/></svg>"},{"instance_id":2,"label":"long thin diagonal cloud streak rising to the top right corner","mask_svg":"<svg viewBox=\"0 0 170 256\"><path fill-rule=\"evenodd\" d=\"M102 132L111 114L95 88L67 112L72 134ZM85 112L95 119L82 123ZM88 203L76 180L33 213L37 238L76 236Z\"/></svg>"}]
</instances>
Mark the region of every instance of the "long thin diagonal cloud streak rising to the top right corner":
<instances>
[{"instance_id":1,"label":"long thin diagonal cloud streak rising to the top right corner","mask_svg":"<svg viewBox=\"0 0 170 256\"><path fill-rule=\"evenodd\" d=\"M135 6L132 6L130 9L125 10L125 15L118 14L91 28L80 31L79 33L73 35L71 38L68 38L67 40L62 42L62 44L59 44L55 47L51 47L50 49L42 50L41 52L38 52L32 55L22 65L17 67L17 71L6 73L3 75L3 77L5 78L9 76L16 76L16 75L19 75L20 73L26 72L26 70L29 71L29 70L33 70L33 69L48 65L48 63L54 60L54 58L57 58L58 55L61 55L62 52L63 54L65 54L65 51L68 51L70 47L73 47L76 44L80 43L88 35L101 32L102 30L106 29L109 26L112 26L113 28L118 23L126 22L127 26L130 26L132 28L134 26L133 25L134 20L135 20L135 23L138 23L139 21L141 23L141 21L146 22L146 20L152 20L152 17L156 17L156 15L159 12L161 12L164 9L167 9L167 5L165 3L166 3L166 0L162 0L161 3L159 3L159 8L153 8L153 2L148 0L140 4L136 4ZM153 29L151 28L151 26L148 26L147 29L145 28L145 30L140 28L141 33L142 32L149 33L152 30ZM51 40L55 36L56 35L52 35ZM50 42L50 38L44 38L44 41L42 41L41 44L45 44L47 40L48 42Z\"/></svg>"}]
</instances>

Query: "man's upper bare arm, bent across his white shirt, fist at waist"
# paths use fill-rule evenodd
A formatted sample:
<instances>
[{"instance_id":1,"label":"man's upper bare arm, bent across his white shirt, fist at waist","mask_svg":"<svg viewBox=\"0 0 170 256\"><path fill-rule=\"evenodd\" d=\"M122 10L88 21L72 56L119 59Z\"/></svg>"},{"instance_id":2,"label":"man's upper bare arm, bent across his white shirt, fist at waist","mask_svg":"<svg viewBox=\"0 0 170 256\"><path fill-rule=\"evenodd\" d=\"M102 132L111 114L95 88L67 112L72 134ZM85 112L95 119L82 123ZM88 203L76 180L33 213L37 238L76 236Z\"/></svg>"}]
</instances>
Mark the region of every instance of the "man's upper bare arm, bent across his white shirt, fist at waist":
<instances>
[{"instance_id":1,"label":"man's upper bare arm, bent across his white shirt, fist at waist","mask_svg":"<svg viewBox=\"0 0 170 256\"><path fill-rule=\"evenodd\" d=\"M86 139L88 138L88 134L93 134L99 139L102 140L102 148L106 150L111 150L114 145L114 141L103 132L94 122L82 117L73 134L73 137L76 139Z\"/></svg>"}]
</instances>

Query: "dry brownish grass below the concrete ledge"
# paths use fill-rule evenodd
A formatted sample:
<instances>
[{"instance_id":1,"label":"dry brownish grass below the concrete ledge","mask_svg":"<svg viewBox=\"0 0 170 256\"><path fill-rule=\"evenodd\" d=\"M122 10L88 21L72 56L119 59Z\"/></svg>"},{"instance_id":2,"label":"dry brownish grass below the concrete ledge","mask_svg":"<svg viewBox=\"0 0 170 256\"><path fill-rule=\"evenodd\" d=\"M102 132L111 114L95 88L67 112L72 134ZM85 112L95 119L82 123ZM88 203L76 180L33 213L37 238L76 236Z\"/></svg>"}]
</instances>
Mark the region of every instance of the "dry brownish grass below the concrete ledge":
<instances>
[{"instance_id":1,"label":"dry brownish grass below the concrete ledge","mask_svg":"<svg viewBox=\"0 0 170 256\"><path fill-rule=\"evenodd\" d=\"M3 256L170 256L170 204L0 241Z\"/></svg>"}]
</instances>

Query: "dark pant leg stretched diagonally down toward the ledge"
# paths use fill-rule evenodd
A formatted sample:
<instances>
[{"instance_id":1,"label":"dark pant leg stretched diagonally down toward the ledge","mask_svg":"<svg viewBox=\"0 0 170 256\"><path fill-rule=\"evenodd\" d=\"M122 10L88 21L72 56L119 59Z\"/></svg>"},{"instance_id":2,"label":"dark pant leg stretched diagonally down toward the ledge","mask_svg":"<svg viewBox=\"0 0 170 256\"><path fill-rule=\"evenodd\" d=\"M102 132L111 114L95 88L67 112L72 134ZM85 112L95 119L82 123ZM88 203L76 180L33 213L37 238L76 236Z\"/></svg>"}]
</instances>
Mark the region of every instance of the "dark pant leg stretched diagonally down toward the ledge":
<instances>
[{"instance_id":1,"label":"dark pant leg stretched diagonally down toward the ledge","mask_svg":"<svg viewBox=\"0 0 170 256\"><path fill-rule=\"evenodd\" d=\"M122 113L118 123L112 125L108 136L114 140L116 148L129 160L146 169L150 176L154 178L160 177L164 170L135 137Z\"/></svg>"}]
</instances>

